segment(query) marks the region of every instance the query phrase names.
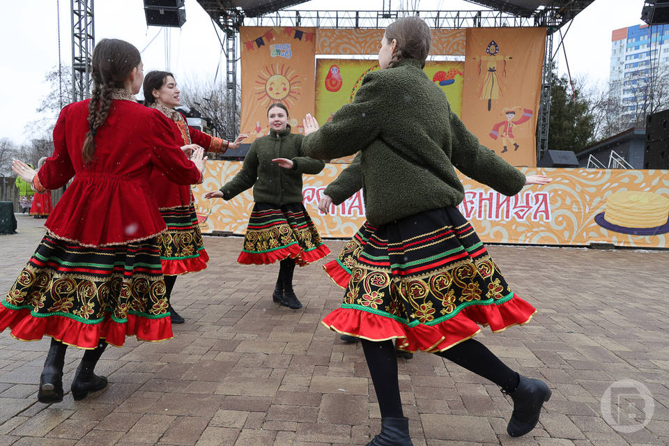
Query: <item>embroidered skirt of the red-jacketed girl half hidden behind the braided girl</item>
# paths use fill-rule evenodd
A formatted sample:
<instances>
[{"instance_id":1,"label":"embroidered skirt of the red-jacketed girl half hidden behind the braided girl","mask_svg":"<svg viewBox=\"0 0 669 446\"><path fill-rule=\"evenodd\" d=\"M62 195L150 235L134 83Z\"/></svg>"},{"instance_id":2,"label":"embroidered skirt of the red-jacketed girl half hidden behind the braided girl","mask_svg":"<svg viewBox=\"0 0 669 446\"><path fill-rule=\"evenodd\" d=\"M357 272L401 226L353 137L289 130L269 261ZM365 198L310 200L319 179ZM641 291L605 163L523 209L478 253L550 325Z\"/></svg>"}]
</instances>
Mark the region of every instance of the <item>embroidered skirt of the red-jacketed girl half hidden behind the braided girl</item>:
<instances>
[{"instance_id":1,"label":"embroidered skirt of the red-jacketed girl half hidden behind the braided girl","mask_svg":"<svg viewBox=\"0 0 669 446\"><path fill-rule=\"evenodd\" d=\"M195 206L161 209L167 231L157 236L164 275L182 275L207 268L209 256L204 249Z\"/></svg>"}]
</instances>

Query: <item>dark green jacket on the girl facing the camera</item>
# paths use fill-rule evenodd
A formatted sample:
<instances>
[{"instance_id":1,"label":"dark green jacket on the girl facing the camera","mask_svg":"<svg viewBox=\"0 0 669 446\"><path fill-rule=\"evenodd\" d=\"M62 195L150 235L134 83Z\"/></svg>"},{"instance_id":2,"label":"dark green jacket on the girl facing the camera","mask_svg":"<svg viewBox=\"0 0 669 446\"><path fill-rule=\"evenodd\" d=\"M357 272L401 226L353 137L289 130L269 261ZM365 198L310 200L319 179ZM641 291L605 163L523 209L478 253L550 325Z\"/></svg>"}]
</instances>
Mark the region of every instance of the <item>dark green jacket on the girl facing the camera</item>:
<instances>
[{"instance_id":1,"label":"dark green jacket on the girl facing the camera","mask_svg":"<svg viewBox=\"0 0 669 446\"><path fill-rule=\"evenodd\" d=\"M302 134L291 133L291 128L253 141L238 174L221 187L223 198L229 200L253 186L256 203L283 206L302 203L302 174L318 174L325 162L306 157L302 151ZM284 169L272 162L275 158L293 161L293 169Z\"/></svg>"}]
</instances>

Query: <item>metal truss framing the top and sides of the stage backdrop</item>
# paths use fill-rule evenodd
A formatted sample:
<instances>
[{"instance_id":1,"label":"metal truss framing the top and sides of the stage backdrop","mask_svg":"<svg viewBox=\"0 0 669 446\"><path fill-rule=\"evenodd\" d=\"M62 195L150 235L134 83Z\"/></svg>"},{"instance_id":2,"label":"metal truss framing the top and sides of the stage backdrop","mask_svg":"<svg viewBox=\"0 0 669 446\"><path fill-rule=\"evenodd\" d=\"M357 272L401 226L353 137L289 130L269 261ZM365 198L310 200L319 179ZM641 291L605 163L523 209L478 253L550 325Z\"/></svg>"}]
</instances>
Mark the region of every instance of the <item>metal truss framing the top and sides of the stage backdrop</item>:
<instances>
[{"instance_id":1,"label":"metal truss framing the top and sides of the stage backdrop","mask_svg":"<svg viewBox=\"0 0 669 446\"><path fill-rule=\"evenodd\" d=\"M537 9L521 8L511 5L507 1L477 0L482 6L498 8L499 10L469 10L469 11L393 11L393 10L275 10L261 15L259 11L235 6L233 1L226 0L198 0L202 8L212 20L226 33L226 90L228 121L226 122L226 137L234 139L238 129L235 117L238 114L237 102L237 61L238 61L238 33L240 26L313 26L316 28L385 28L399 17L418 15L431 27L436 29L461 28L497 28L502 26L545 26L546 54L544 55L544 72L541 79L541 100L539 103L539 118L537 121L537 161L541 160L548 150L548 121L551 113L551 84L553 83L553 61L557 51L553 53L553 34L564 24L571 21L580 11L590 5L593 0L569 0L553 2L557 6L541 6ZM496 3L495 3L496 2ZM281 3L273 1L271 3ZM285 5L276 4L278 8L300 3L284 1ZM494 3L494 4L493 4ZM521 2L522 3L522 2ZM531 3L531 2L530 2ZM539 2L545 3L545 2ZM559 49L562 40L558 44Z\"/></svg>"}]
</instances>

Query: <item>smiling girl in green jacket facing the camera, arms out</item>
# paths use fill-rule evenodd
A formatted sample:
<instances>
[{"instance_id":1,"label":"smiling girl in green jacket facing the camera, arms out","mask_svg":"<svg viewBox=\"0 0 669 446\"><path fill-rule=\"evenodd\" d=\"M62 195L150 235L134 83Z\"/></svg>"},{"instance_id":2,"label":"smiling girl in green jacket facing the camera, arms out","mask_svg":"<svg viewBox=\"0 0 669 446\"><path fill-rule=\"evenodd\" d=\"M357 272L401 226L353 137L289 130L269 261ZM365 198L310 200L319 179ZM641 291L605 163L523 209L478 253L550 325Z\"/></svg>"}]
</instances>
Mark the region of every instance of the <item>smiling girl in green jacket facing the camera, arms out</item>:
<instances>
[{"instance_id":1,"label":"smiling girl in green jacket facing the camera, arms out","mask_svg":"<svg viewBox=\"0 0 669 446\"><path fill-rule=\"evenodd\" d=\"M302 204L302 174L318 174L325 163L302 153L304 137L291 133L285 105L270 105L267 116L270 134L253 141L234 178L204 197L229 200L253 186L255 204L237 261L280 261L272 300L298 309L302 303L293 291L295 263L305 266L330 254Z\"/></svg>"}]
</instances>

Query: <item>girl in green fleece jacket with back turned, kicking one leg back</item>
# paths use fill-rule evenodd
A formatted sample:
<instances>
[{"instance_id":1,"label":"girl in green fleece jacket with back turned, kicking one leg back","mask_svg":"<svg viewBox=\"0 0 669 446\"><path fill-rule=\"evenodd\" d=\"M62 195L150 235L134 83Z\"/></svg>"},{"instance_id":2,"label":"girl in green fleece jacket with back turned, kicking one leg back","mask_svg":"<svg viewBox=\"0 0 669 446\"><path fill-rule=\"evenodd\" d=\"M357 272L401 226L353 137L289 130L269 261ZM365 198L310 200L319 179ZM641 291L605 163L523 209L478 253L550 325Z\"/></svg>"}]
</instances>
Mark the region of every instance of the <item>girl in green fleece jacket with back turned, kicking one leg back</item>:
<instances>
[{"instance_id":1,"label":"girl in green fleece jacket with back turned, kicking one leg back","mask_svg":"<svg viewBox=\"0 0 669 446\"><path fill-rule=\"evenodd\" d=\"M344 263L351 271L344 302L323 323L362 339L381 414L381 431L369 446L413 445L392 339L403 350L445 357L510 394L510 436L534 429L551 397L546 383L519 375L472 339L479 325L501 332L528 323L536 310L510 289L458 212L464 188L455 169L509 196L550 179L525 178L465 128L422 70L430 38L419 17L390 24L380 41L381 70L364 77L355 100L320 130L312 116L305 119L306 155L360 151L369 225ZM339 279L346 282L346 275Z\"/></svg>"}]
</instances>

